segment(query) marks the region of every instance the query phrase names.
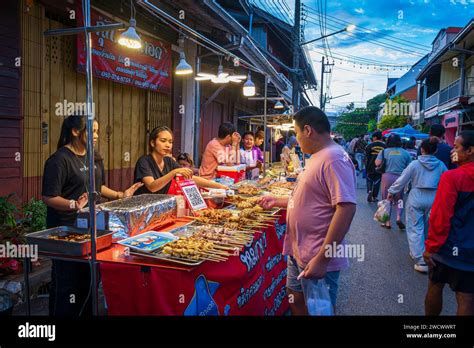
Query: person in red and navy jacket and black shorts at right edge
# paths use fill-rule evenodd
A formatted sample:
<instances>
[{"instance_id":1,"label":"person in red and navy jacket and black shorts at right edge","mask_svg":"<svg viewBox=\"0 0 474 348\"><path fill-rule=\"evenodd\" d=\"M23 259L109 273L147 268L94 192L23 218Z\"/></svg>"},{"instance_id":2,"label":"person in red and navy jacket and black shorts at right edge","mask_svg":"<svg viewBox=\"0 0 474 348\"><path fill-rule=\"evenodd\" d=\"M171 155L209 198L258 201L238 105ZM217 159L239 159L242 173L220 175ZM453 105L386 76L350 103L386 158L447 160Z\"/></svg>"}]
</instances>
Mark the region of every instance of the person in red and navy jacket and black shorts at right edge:
<instances>
[{"instance_id":1,"label":"person in red and navy jacket and black shorts at right edge","mask_svg":"<svg viewBox=\"0 0 474 348\"><path fill-rule=\"evenodd\" d=\"M441 313L445 284L456 293L457 315L474 315L474 131L459 134L451 159L458 167L441 176L425 242L426 315Z\"/></svg>"}]
</instances>

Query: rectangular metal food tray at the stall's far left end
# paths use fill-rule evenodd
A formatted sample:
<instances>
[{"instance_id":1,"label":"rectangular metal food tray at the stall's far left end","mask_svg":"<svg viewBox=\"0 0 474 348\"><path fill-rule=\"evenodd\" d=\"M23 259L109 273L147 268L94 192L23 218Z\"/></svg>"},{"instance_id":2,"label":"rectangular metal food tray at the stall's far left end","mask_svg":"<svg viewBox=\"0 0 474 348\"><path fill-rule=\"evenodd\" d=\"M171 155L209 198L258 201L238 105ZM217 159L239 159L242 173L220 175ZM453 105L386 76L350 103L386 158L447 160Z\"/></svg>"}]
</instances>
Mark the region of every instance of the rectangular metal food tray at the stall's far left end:
<instances>
[{"instance_id":1,"label":"rectangular metal food tray at the stall's far left end","mask_svg":"<svg viewBox=\"0 0 474 348\"><path fill-rule=\"evenodd\" d=\"M85 256L91 252L91 241L68 242L49 239L52 234L66 235L69 233L88 234L89 230L69 226L59 226L26 235L29 244L38 245L38 250L45 253L61 254L65 256ZM97 230L96 249L102 250L112 244L112 231Z\"/></svg>"}]
</instances>

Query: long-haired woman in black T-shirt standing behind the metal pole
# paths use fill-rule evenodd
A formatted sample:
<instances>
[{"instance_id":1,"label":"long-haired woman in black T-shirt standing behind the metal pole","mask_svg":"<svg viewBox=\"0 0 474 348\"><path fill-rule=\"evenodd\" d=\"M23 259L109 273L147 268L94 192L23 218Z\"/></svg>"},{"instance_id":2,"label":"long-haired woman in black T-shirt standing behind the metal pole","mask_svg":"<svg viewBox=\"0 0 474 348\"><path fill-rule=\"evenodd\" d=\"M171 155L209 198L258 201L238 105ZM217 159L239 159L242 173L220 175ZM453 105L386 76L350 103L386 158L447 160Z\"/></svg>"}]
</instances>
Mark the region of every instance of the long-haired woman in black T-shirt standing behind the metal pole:
<instances>
[{"instance_id":1,"label":"long-haired woman in black T-shirt standing behind the metal pole","mask_svg":"<svg viewBox=\"0 0 474 348\"><path fill-rule=\"evenodd\" d=\"M94 122L94 144L99 125ZM88 160L86 156L86 117L69 116L61 127L57 151L45 163L43 174L43 201L47 205L46 225L74 226L77 212L88 200ZM103 196L111 199L132 196L140 185L125 192L105 186L104 167L100 158L95 163L95 182ZM91 314L90 268L88 264L53 261L49 313L57 316Z\"/></svg>"}]
</instances>

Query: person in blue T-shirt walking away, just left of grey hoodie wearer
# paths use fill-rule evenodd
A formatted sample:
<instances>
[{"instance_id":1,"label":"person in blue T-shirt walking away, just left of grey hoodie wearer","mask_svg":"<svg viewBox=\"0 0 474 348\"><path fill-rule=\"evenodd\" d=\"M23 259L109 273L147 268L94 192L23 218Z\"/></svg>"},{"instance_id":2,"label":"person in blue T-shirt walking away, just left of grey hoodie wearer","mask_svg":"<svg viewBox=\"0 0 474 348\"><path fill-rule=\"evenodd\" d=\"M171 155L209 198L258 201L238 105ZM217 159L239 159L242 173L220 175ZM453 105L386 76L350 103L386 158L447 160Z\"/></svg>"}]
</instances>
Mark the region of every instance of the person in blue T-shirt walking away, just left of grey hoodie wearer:
<instances>
[{"instance_id":1,"label":"person in blue T-shirt walking away, just left of grey hoodie wearer","mask_svg":"<svg viewBox=\"0 0 474 348\"><path fill-rule=\"evenodd\" d=\"M408 167L411 162L410 154L402 149L402 140L397 134L390 134L387 138L387 148L377 155L375 165L382 164L382 157L385 159L385 172L382 174L382 199L387 199L388 189L402 174L403 170ZM403 190L397 193L392 200L397 204L397 225L401 230L405 229L405 224L402 222L403 213ZM389 219L382 227L392 228L390 217L392 215L392 205L390 205Z\"/></svg>"}]
</instances>

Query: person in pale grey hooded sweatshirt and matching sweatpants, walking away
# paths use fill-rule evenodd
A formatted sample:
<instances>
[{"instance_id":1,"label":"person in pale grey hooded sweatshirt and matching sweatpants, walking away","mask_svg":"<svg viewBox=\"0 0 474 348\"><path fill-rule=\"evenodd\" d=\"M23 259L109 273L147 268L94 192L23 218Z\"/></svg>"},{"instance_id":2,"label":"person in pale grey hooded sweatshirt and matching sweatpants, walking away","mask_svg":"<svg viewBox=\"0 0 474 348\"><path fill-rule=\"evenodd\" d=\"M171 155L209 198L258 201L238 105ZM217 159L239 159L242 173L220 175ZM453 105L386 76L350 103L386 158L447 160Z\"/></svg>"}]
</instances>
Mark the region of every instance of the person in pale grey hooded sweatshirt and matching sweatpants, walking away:
<instances>
[{"instance_id":1,"label":"person in pale grey hooded sweatshirt and matching sweatpants, walking away","mask_svg":"<svg viewBox=\"0 0 474 348\"><path fill-rule=\"evenodd\" d=\"M392 199L411 182L405 211L407 239L410 257L415 261L414 268L422 273L428 272L423 253L431 206L441 174L448 170L444 163L434 156L438 143L436 138L424 140L421 143L421 155L405 168L402 175L388 189L388 199Z\"/></svg>"}]
</instances>

